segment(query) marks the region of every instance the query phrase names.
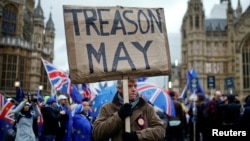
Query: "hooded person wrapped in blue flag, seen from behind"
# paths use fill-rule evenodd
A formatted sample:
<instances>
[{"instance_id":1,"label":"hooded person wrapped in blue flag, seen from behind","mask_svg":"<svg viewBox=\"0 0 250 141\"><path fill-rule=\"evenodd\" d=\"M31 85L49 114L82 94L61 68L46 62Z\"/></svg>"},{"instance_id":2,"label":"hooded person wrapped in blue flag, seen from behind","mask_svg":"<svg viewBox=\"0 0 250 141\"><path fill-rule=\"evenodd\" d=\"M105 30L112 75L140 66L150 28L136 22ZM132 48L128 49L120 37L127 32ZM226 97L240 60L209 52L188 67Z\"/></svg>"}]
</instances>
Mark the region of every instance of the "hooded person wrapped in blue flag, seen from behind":
<instances>
[{"instance_id":1,"label":"hooded person wrapped in blue flag, seen from behind","mask_svg":"<svg viewBox=\"0 0 250 141\"><path fill-rule=\"evenodd\" d=\"M91 141L92 125L84 115L84 106L82 104L76 105L72 120L72 141Z\"/></svg>"}]
</instances>

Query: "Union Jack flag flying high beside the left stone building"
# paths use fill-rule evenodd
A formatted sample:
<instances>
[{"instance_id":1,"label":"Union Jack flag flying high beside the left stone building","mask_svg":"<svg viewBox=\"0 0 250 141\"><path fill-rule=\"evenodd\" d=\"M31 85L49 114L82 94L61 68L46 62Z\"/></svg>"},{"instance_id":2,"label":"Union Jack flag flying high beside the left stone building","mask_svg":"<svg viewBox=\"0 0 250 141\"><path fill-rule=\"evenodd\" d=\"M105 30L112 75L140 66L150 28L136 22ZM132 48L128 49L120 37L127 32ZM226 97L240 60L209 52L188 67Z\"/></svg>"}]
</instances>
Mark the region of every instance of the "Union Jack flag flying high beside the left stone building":
<instances>
[{"instance_id":1,"label":"Union Jack flag flying high beside the left stone building","mask_svg":"<svg viewBox=\"0 0 250 141\"><path fill-rule=\"evenodd\" d=\"M65 72L57 69L50 62L44 59L42 59L42 62L47 72L50 83L55 88L55 90L69 94L72 100L76 103L82 102L82 96L80 92L76 90L77 88L72 85L69 76Z\"/></svg>"}]
</instances>

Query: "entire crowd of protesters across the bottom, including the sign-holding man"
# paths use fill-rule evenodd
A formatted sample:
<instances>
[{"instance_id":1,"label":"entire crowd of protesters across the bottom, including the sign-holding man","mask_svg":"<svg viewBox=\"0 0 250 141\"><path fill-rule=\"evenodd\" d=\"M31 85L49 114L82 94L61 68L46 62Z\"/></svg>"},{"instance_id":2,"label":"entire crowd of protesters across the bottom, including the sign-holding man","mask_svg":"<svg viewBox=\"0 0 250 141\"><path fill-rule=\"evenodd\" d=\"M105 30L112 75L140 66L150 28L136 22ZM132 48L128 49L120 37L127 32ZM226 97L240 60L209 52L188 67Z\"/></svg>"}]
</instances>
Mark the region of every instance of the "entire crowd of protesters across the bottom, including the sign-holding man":
<instances>
[{"instance_id":1,"label":"entire crowd of protesters across the bottom, including the sign-holding man","mask_svg":"<svg viewBox=\"0 0 250 141\"><path fill-rule=\"evenodd\" d=\"M144 138L210 141L213 140L213 129L250 133L250 96L241 104L234 94L222 95L216 91L211 99L197 94L184 102L178 99L176 92L170 91L176 112L171 117L159 109L154 109L152 113L153 106L138 97L134 83L132 81L133 86L128 87L130 95L136 94L130 104L123 104L122 87L119 85L113 101L101 109L97 119L93 117L90 101L86 98L79 104L70 104L67 95L46 97L43 101L24 100L12 111L18 119L15 141L95 141L111 138L114 141L139 141ZM43 118L41 134L38 134L36 126L39 115ZM128 116L135 120L130 133L124 131L123 125ZM159 133L164 133L164 136Z\"/></svg>"}]
</instances>

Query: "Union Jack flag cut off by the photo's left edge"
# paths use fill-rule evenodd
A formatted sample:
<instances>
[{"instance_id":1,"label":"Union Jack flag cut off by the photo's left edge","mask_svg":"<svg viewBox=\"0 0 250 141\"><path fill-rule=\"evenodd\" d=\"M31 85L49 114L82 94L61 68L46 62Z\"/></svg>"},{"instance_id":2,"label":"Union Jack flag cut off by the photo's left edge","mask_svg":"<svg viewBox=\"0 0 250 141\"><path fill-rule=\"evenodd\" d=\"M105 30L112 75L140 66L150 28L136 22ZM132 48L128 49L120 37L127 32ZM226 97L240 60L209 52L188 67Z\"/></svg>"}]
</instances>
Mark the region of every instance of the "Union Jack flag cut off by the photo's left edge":
<instances>
[{"instance_id":1,"label":"Union Jack flag cut off by the photo's left edge","mask_svg":"<svg viewBox=\"0 0 250 141\"><path fill-rule=\"evenodd\" d=\"M0 141L4 140L6 132L13 126L15 120L14 114L11 111L14 108L14 103L8 101L4 95L0 93Z\"/></svg>"}]
</instances>

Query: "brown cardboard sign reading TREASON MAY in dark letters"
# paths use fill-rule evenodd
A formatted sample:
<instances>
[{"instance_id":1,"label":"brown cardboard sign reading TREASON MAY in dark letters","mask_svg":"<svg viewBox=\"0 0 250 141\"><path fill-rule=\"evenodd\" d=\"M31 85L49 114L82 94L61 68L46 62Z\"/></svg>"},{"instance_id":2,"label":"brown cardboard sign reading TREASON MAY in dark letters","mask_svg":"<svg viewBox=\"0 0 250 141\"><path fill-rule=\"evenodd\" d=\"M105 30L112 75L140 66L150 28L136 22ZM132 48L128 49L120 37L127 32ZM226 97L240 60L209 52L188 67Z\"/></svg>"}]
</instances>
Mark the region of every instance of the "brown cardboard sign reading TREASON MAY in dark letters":
<instances>
[{"instance_id":1,"label":"brown cardboard sign reading TREASON MAY in dark letters","mask_svg":"<svg viewBox=\"0 0 250 141\"><path fill-rule=\"evenodd\" d=\"M162 8L63 6L73 83L171 72Z\"/></svg>"}]
</instances>

